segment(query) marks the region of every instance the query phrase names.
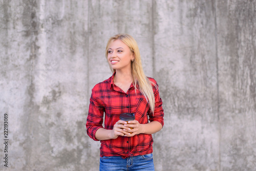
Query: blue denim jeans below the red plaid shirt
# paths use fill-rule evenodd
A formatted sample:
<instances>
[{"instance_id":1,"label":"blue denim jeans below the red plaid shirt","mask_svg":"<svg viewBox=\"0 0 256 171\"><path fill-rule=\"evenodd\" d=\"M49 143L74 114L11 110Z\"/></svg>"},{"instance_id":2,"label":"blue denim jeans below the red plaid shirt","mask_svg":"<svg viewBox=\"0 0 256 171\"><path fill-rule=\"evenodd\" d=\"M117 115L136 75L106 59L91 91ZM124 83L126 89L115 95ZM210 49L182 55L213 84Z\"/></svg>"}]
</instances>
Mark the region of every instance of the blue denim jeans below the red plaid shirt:
<instances>
[{"instance_id":1,"label":"blue denim jeans below the red plaid shirt","mask_svg":"<svg viewBox=\"0 0 256 171\"><path fill-rule=\"evenodd\" d=\"M153 154L133 156L125 159L121 156L100 157L99 170L154 171Z\"/></svg>"}]
</instances>

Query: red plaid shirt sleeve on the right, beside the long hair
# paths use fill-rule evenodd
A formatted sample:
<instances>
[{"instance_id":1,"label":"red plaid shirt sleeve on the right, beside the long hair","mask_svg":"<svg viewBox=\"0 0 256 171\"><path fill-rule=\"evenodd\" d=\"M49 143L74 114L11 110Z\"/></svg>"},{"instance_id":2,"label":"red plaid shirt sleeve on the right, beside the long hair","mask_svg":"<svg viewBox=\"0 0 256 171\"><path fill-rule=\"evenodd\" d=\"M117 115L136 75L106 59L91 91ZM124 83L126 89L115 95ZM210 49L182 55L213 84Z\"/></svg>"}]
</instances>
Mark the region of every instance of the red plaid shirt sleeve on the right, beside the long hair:
<instances>
[{"instance_id":1,"label":"red plaid shirt sleeve on the right, beside the long hair","mask_svg":"<svg viewBox=\"0 0 256 171\"><path fill-rule=\"evenodd\" d=\"M153 92L155 95L155 110L154 110L154 114L152 112L149 113L149 120L151 122L158 121L163 126L164 125L164 121L163 121L164 113L163 113L163 108L162 108L163 102L159 95L159 89L158 89L157 82L153 78L151 79L151 81L153 82L152 88L153 88Z\"/></svg>"}]
</instances>

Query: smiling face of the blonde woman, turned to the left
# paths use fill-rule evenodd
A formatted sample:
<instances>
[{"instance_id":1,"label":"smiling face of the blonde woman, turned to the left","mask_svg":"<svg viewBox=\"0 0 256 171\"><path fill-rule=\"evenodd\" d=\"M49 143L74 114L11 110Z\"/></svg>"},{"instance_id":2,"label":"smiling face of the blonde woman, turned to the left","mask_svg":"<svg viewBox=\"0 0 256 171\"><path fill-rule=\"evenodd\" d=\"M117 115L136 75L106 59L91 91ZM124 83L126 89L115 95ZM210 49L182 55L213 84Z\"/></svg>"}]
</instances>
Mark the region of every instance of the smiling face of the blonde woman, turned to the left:
<instances>
[{"instance_id":1,"label":"smiling face of the blonde woman, turned to the left","mask_svg":"<svg viewBox=\"0 0 256 171\"><path fill-rule=\"evenodd\" d=\"M108 50L108 62L114 70L131 71L131 60L134 55L123 41L114 40Z\"/></svg>"}]
</instances>

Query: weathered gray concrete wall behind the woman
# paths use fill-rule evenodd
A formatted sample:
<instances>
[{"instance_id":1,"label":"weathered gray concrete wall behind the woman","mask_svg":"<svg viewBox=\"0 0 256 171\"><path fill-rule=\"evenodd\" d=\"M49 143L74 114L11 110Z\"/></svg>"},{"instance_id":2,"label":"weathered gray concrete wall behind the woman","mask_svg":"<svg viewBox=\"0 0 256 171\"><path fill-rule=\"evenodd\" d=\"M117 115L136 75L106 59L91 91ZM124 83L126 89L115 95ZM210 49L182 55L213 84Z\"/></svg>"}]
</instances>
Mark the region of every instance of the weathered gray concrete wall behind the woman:
<instances>
[{"instance_id":1,"label":"weathered gray concrete wall behind the woman","mask_svg":"<svg viewBox=\"0 0 256 171\"><path fill-rule=\"evenodd\" d=\"M255 16L242 0L0 1L0 170L98 170L85 125L116 33L135 37L160 87L156 170L255 170Z\"/></svg>"}]
</instances>

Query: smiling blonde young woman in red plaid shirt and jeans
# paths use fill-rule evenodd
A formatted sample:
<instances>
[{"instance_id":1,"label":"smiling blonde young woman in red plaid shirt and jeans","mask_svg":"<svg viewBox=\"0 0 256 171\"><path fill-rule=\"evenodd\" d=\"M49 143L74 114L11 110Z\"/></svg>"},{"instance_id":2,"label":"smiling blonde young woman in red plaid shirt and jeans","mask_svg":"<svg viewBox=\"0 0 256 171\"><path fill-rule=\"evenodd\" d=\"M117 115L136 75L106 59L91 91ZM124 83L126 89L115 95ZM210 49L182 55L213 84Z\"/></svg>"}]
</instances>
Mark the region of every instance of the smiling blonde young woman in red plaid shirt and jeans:
<instances>
[{"instance_id":1,"label":"smiling blonde young woman in red plaid shirt and jeans","mask_svg":"<svg viewBox=\"0 0 256 171\"><path fill-rule=\"evenodd\" d=\"M92 89L86 123L87 134L101 142L100 170L155 170L152 134L164 116L158 84L145 76L131 35L111 37L105 55L113 75ZM122 113L134 113L135 120L120 120Z\"/></svg>"}]
</instances>

